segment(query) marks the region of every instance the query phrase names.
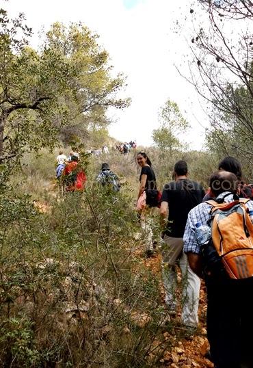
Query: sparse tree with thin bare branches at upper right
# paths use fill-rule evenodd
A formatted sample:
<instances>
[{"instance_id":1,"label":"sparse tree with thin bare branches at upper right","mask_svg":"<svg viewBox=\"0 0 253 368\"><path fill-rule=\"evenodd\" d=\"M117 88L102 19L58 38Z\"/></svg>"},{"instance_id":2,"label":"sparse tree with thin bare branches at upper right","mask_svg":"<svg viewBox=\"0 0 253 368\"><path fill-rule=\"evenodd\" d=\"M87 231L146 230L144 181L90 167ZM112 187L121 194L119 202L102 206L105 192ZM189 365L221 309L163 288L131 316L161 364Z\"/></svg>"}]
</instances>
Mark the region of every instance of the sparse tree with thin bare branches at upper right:
<instances>
[{"instance_id":1,"label":"sparse tree with thin bare branches at upper right","mask_svg":"<svg viewBox=\"0 0 253 368\"><path fill-rule=\"evenodd\" d=\"M190 16L193 60L187 80L208 102L213 137L224 131L230 150L252 157L253 3L250 0L198 0ZM207 18L205 18L207 16ZM204 18L204 21L200 20ZM210 138L210 137L209 137ZM219 140L219 138L218 138ZM229 148L229 149L228 149Z\"/></svg>"}]
</instances>

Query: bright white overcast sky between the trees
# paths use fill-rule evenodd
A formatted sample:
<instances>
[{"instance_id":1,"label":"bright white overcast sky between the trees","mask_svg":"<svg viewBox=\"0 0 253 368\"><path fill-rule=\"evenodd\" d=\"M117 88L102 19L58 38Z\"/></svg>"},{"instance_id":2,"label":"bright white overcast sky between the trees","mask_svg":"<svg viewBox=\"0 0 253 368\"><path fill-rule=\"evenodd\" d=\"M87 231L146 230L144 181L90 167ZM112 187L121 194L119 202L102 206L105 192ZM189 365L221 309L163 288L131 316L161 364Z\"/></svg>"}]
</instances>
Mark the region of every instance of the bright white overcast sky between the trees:
<instances>
[{"instance_id":1,"label":"bright white overcast sky between the trees","mask_svg":"<svg viewBox=\"0 0 253 368\"><path fill-rule=\"evenodd\" d=\"M187 57L187 43L174 31L178 18L189 14L189 0L9 0L0 1L12 16L24 12L36 34L55 21L83 22L100 35L116 72L127 75L125 96L132 98L124 111L110 111L116 122L109 133L120 141L136 139L152 144L159 126L159 107L170 98L191 123L185 140L200 149L208 124L198 95L180 77L174 64ZM188 24L185 25L187 29ZM189 36L190 37L190 36ZM34 38L34 42L36 38Z\"/></svg>"}]
</instances>

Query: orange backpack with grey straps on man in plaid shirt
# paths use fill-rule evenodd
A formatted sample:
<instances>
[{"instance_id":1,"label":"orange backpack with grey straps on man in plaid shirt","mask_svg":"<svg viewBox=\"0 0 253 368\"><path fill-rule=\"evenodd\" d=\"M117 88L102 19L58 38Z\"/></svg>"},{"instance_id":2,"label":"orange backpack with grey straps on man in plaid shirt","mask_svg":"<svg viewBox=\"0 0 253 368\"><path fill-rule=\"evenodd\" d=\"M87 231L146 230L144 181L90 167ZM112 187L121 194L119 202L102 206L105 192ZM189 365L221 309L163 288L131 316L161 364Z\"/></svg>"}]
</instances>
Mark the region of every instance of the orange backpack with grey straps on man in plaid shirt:
<instances>
[{"instance_id":1,"label":"orange backpack with grey straps on man in plaid shirt","mask_svg":"<svg viewBox=\"0 0 253 368\"><path fill-rule=\"evenodd\" d=\"M253 224L245 203L207 200L211 208L212 241L230 278L253 276Z\"/></svg>"}]
</instances>

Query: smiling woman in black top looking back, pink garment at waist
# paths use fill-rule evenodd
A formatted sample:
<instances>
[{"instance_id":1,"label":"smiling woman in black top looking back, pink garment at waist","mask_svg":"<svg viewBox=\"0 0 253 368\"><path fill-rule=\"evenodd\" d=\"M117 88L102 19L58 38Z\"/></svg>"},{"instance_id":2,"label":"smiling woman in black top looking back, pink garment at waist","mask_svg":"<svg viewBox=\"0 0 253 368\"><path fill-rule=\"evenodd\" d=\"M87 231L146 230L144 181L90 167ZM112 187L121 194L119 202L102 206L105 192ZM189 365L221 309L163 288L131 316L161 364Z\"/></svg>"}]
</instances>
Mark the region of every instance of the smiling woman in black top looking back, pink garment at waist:
<instances>
[{"instance_id":1,"label":"smiling woman in black top looking back, pink garment at waist","mask_svg":"<svg viewBox=\"0 0 253 368\"><path fill-rule=\"evenodd\" d=\"M154 255L153 233L152 233L152 213L156 204L147 202L146 191L157 192L157 181L155 172L152 170L151 161L144 151L137 154L137 164L142 168L139 175L139 192L137 196L137 210L139 211L139 220L145 235L146 255L152 257Z\"/></svg>"}]
</instances>

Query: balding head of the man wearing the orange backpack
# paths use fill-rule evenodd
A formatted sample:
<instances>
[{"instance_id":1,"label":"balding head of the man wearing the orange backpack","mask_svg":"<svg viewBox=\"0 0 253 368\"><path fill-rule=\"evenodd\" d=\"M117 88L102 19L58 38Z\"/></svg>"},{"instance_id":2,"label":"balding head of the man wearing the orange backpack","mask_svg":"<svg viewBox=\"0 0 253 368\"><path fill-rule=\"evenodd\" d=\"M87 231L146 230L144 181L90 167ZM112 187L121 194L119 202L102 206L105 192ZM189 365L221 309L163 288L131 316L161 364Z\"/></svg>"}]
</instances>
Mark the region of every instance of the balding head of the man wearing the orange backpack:
<instances>
[{"instance_id":1,"label":"balding head of the man wearing the orange backpack","mask_svg":"<svg viewBox=\"0 0 253 368\"><path fill-rule=\"evenodd\" d=\"M212 194L217 197L224 192L237 193L239 181L237 176L228 171L216 171L211 175L209 186Z\"/></svg>"}]
</instances>

